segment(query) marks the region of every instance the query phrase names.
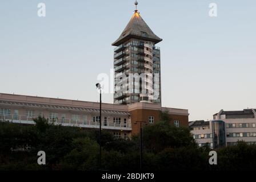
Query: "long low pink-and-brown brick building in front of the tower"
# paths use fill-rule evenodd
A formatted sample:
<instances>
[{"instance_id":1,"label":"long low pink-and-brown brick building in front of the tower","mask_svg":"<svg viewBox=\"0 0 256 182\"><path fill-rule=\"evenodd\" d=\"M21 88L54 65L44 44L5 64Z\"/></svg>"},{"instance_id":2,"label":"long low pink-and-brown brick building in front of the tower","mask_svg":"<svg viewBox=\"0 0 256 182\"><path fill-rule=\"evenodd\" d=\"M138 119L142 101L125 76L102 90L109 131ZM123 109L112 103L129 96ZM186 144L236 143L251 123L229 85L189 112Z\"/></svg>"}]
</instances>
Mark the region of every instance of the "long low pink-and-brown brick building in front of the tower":
<instances>
[{"instance_id":1,"label":"long low pink-and-brown brick building in front of the tower","mask_svg":"<svg viewBox=\"0 0 256 182\"><path fill-rule=\"evenodd\" d=\"M138 122L148 125L158 122L161 111L166 110L175 126L189 126L186 109L137 102L131 105L102 104L102 129L113 132L117 138L131 137L139 133ZM33 119L38 116L55 125L98 129L99 103L0 93L0 121L34 124Z\"/></svg>"}]
</instances>

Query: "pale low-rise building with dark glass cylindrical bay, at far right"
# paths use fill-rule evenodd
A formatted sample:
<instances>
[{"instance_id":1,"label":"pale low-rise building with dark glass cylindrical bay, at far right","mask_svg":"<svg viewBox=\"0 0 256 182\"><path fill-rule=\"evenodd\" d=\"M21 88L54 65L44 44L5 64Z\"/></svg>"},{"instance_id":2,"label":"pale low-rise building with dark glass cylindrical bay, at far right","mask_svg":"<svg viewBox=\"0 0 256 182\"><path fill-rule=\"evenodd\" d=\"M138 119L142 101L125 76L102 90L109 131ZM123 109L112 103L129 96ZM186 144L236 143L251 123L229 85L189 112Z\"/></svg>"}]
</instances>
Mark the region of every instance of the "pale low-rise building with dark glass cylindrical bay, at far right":
<instances>
[{"instance_id":1,"label":"pale low-rise building with dark glass cylindrical bay, at far right","mask_svg":"<svg viewBox=\"0 0 256 182\"><path fill-rule=\"evenodd\" d=\"M225 143L225 146L233 146L239 140L248 144L256 144L255 109L221 110L213 115L213 119L213 121L193 121L189 123L191 133L198 146L209 144L212 148L218 148L222 146L220 143ZM218 126L216 126L217 121Z\"/></svg>"}]
</instances>

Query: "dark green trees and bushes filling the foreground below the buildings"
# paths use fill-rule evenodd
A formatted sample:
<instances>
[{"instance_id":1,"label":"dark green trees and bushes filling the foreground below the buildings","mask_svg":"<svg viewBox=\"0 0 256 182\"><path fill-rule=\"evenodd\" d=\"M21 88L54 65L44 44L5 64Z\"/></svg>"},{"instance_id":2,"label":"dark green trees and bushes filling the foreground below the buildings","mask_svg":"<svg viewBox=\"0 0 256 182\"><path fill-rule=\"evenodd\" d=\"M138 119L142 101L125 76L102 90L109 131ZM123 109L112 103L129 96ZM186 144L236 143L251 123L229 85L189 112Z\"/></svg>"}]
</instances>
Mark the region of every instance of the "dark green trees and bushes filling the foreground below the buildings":
<instances>
[{"instance_id":1,"label":"dark green trees and bushes filling the foreground below the buildings","mask_svg":"<svg viewBox=\"0 0 256 182\"><path fill-rule=\"evenodd\" d=\"M187 128L170 125L169 114L162 122L143 128L145 170L253 170L256 146L238 142L217 151L218 165L209 165L209 147L197 147ZM54 126L45 118L35 125L0 122L0 170L98 170L99 130ZM115 139L102 130L103 170L139 169L140 138ZM37 164L37 152L46 152L46 165Z\"/></svg>"}]
</instances>

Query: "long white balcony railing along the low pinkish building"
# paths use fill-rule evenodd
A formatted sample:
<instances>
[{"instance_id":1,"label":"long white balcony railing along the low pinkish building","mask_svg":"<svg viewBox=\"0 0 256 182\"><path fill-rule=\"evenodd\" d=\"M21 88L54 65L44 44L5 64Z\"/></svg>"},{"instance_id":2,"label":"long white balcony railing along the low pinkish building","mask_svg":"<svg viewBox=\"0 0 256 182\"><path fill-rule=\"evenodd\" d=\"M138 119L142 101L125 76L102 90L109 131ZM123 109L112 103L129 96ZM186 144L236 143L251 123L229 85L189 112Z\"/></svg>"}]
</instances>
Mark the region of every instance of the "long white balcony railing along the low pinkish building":
<instances>
[{"instance_id":1,"label":"long white balcony railing along the low pinkish building","mask_svg":"<svg viewBox=\"0 0 256 182\"><path fill-rule=\"evenodd\" d=\"M74 127L84 127L84 128L98 128L99 122L90 121L86 119L68 119L68 118L46 118L49 123L54 125L63 125L63 126L74 126ZM13 122L13 123L22 123L22 124L35 124L34 118L28 117L27 115L0 115L0 122ZM121 122L115 123L111 121L103 121L102 119L102 128L103 129L113 129L113 130L131 130L131 123Z\"/></svg>"}]
</instances>

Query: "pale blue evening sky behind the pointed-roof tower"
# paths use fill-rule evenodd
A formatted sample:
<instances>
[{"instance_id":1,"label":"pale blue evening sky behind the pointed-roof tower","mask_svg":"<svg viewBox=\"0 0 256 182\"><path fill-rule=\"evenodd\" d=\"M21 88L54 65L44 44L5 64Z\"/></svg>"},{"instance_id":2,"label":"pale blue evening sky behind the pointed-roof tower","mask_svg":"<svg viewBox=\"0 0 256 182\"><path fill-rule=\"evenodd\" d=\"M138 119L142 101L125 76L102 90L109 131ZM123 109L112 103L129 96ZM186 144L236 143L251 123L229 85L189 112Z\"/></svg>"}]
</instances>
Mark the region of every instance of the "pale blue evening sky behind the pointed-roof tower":
<instances>
[{"instance_id":1,"label":"pale blue evening sky behind the pointed-roof tower","mask_svg":"<svg viewBox=\"0 0 256 182\"><path fill-rule=\"evenodd\" d=\"M190 121L256 108L256 1L138 3L163 39L162 106L189 109ZM210 3L217 17L209 16ZM1 0L0 93L99 101L97 76L110 76L111 43L134 10L133 0ZM102 101L113 103L113 94Z\"/></svg>"}]
</instances>

